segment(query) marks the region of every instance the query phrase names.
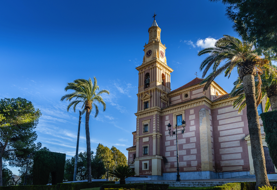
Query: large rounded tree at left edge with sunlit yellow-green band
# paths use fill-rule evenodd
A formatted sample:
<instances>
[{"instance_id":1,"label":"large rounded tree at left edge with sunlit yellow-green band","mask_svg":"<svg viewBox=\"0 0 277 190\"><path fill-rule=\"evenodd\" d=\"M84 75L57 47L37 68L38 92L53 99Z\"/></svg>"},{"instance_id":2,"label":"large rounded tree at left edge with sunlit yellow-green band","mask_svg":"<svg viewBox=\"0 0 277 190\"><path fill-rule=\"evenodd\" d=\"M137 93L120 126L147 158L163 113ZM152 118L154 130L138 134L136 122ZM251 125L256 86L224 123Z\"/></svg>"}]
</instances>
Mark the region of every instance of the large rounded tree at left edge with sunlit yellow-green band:
<instances>
[{"instance_id":1,"label":"large rounded tree at left edge with sunlit yellow-green band","mask_svg":"<svg viewBox=\"0 0 277 190\"><path fill-rule=\"evenodd\" d=\"M0 100L0 186L2 186L2 158L12 161L24 159L36 145L34 141L40 111L24 98Z\"/></svg>"}]
</instances>

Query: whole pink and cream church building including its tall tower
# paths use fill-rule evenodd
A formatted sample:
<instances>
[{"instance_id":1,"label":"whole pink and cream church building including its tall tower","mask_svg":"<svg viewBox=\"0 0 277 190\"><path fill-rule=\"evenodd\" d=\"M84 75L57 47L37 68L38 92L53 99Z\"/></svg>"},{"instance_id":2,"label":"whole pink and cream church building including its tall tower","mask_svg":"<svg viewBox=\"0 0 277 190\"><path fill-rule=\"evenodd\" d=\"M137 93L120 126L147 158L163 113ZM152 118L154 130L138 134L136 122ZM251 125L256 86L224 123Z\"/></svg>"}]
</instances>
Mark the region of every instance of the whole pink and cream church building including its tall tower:
<instances>
[{"instance_id":1,"label":"whole pink and cream church building including its tall tower","mask_svg":"<svg viewBox=\"0 0 277 190\"><path fill-rule=\"evenodd\" d=\"M138 108L133 146L127 148L128 164L136 175L153 180L174 180L177 173L176 135L178 135L181 179L214 179L220 172L248 171L254 174L246 109L238 113L232 106L236 97L216 82L203 93L203 79L195 78L175 90L170 88L173 70L166 62L166 47L161 43L161 28L154 20L148 29L149 41L139 71ZM258 107L264 109L265 100ZM263 146L266 143L261 133ZM180 133L180 132L179 132ZM270 169L271 167L271 169ZM276 171L267 164L268 171Z\"/></svg>"}]
</instances>

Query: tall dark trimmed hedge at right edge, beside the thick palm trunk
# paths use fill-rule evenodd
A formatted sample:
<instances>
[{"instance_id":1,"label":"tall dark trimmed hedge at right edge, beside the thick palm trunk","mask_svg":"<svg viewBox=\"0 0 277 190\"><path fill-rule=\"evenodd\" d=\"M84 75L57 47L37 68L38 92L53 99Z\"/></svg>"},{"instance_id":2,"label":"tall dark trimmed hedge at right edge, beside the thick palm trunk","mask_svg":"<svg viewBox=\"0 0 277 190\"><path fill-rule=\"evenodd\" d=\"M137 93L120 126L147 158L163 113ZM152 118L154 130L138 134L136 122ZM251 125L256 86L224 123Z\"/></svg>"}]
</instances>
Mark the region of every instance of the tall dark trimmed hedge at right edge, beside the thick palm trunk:
<instances>
[{"instance_id":1,"label":"tall dark trimmed hedge at right edge, beside the thick palm trunk","mask_svg":"<svg viewBox=\"0 0 277 190\"><path fill-rule=\"evenodd\" d=\"M268 111L261 114L264 131L266 133L266 144L269 155L274 165L277 165L277 110Z\"/></svg>"}]
</instances>

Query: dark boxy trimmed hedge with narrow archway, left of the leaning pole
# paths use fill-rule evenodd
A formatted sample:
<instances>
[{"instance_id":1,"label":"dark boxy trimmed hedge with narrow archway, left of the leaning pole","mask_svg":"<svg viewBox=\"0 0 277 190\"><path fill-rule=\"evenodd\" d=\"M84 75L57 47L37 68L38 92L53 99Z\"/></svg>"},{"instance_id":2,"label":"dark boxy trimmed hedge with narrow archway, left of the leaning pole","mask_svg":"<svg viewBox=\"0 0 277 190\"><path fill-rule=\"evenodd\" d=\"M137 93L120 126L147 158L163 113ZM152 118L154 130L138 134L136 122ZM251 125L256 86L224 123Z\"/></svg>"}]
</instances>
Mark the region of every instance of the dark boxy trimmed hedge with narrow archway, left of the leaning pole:
<instances>
[{"instance_id":1,"label":"dark boxy trimmed hedge with narrow archway, left of the leaning pole","mask_svg":"<svg viewBox=\"0 0 277 190\"><path fill-rule=\"evenodd\" d=\"M66 154L49 151L37 151L34 155L33 184L46 185L49 174L52 175L52 184L62 183L66 163Z\"/></svg>"}]
</instances>

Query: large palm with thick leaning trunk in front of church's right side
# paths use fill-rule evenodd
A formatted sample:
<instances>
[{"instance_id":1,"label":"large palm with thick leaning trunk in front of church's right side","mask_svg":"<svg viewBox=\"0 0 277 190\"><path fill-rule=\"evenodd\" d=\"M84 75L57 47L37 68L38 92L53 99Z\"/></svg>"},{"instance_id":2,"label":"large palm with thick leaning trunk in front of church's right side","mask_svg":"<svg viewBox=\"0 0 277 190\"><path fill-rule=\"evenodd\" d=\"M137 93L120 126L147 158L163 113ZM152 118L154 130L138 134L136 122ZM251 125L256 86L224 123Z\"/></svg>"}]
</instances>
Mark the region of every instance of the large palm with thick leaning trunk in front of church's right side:
<instances>
[{"instance_id":1,"label":"large palm with thick leaning trunk in front of church's right side","mask_svg":"<svg viewBox=\"0 0 277 190\"><path fill-rule=\"evenodd\" d=\"M215 47L201 50L198 56L209 53L209 56L200 65L200 70L203 70L202 78L212 68L212 72L201 83L206 83L204 91L208 89L211 82L221 73L225 72L225 76L230 76L234 68L238 69L238 76L242 80L245 93L251 152L257 182L256 189L258 189L258 187L270 184L266 174L266 161L262 147L254 75L259 71L257 69L260 66L268 66L269 61L259 57L258 53L253 50L253 45L253 43L245 40L241 42L238 38L224 35L223 38L216 41ZM220 63L222 61L226 62L221 66Z\"/></svg>"}]
</instances>

